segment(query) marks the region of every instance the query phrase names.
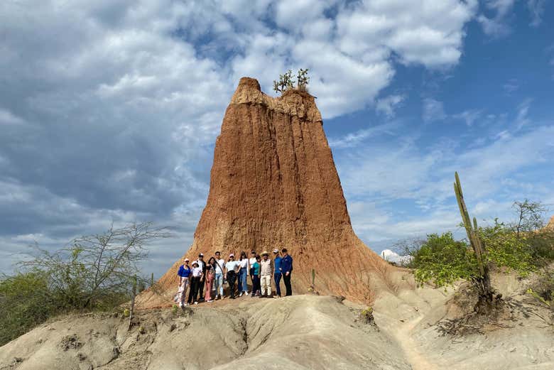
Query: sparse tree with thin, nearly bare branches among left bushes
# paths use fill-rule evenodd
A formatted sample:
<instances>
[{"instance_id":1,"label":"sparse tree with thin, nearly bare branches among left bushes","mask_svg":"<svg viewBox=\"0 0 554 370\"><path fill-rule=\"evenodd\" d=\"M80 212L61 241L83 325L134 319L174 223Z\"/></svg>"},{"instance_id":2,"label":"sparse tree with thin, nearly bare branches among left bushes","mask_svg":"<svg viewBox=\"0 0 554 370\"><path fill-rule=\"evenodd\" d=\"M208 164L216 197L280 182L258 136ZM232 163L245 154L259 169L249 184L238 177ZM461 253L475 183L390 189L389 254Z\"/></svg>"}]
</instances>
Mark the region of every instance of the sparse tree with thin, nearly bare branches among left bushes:
<instances>
[{"instance_id":1,"label":"sparse tree with thin, nearly bare branches among left bushes","mask_svg":"<svg viewBox=\"0 0 554 370\"><path fill-rule=\"evenodd\" d=\"M34 247L22 268L41 271L60 308L90 310L121 303L142 275L138 263L148 257L146 244L172 236L151 222L131 224L103 234L81 236L69 247L50 252ZM141 281L146 282L145 278Z\"/></svg>"}]
</instances>

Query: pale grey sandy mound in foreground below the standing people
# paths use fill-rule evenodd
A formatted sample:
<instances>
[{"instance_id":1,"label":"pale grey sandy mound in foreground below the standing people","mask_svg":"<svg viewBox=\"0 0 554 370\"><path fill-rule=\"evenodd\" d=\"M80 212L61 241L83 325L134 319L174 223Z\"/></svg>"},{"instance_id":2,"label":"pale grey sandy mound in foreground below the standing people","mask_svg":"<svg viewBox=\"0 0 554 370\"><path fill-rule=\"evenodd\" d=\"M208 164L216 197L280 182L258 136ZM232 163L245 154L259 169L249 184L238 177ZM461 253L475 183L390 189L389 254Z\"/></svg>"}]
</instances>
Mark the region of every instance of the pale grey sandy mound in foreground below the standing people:
<instances>
[{"instance_id":1,"label":"pale grey sandy mound in foreground below the standing people","mask_svg":"<svg viewBox=\"0 0 554 370\"><path fill-rule=\"evenodd\" d=\"M121 317L67 317L1 347L0 369L410 369L394 342L337 298L233 303L143 312L130 332ZM82 346L65 349L69 335Z\"/></svg>"}]
</instances>

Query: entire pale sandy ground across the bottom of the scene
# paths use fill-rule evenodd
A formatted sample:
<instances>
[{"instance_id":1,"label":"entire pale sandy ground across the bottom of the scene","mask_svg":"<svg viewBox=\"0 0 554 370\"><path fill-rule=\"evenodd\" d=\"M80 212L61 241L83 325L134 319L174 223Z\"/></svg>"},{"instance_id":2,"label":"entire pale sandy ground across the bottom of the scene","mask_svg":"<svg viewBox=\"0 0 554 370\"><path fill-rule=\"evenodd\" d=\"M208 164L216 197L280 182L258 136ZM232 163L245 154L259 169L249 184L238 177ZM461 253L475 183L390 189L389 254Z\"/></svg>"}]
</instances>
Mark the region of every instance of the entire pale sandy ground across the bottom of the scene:
<instances>
[{"instance_id":1,"label":"entire pale sandy ground across the bottom of the scene","mask_svg":"<svg viewBox=\"0 0 554 370\"><path fill-rule=\"evenodd\" d=\"M452 305L455 290L415 289L406 272L389 282L376 326L360 320L364 305L317 295L143 311L130 330L121 315L78 315L0 347L0 369L554 369L550 311L513 277L494 285L537 315L463 337L437 330L464 309Z\"/></svg>"}]
</instances>

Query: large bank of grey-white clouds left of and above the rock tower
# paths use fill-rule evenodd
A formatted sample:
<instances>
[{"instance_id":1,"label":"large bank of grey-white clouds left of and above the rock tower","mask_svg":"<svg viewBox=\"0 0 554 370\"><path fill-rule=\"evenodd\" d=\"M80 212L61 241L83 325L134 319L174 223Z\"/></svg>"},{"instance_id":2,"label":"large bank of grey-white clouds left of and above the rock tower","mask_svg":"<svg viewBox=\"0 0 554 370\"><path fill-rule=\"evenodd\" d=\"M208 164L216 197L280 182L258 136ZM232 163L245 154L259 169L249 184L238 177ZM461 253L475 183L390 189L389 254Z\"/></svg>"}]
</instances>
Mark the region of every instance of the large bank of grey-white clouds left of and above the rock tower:
<instances>
[{"instance_id":1,"label":"large bank of grey-white clouds left of and above the rock tower","mask_svg":"<svg viewBox=\"0 0 554 370\"><path fill-rule=\"evenodd\" d=\"M112 219L154 219L180 225L178 256L239 77L267 92L283 70L308 67L324 118L346 114L390 85L394 60L456 65L475 11L474 0L3 1L0 181L10 190L0 212L10 222L0 237L67 241ZM392 116L401 102L376 104Z\"/></svg>"}]
</instances>

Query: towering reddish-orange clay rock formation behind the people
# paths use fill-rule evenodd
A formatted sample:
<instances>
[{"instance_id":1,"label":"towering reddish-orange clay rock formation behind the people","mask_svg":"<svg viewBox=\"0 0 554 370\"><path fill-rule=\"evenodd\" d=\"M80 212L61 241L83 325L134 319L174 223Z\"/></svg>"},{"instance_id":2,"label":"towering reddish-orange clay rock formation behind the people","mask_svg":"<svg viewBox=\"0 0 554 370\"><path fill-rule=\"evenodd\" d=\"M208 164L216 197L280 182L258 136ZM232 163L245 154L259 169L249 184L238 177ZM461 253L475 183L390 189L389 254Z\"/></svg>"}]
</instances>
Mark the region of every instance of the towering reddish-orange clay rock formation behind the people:
<instances>
[{"instance_id":1,"label":"towering reddish-orange clay rock formation behind the people","mask_svg":"<svg viewBox=\"0 0 554 370\"><path fill-rule=\"evenodd\" d=\"M371 302L393 269L358 239L347 211L315 99L289 90L273 98L241 78L214 149L210 194L194 241L139 306L170 305L183 259L286 247L294 259L293 292L315 288ZM283 285L281 285L283 286ZM161 294L160 294L161 292Z\"/></svg>"}]
</instances>

